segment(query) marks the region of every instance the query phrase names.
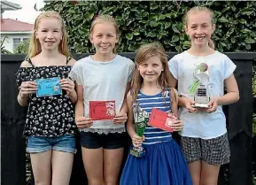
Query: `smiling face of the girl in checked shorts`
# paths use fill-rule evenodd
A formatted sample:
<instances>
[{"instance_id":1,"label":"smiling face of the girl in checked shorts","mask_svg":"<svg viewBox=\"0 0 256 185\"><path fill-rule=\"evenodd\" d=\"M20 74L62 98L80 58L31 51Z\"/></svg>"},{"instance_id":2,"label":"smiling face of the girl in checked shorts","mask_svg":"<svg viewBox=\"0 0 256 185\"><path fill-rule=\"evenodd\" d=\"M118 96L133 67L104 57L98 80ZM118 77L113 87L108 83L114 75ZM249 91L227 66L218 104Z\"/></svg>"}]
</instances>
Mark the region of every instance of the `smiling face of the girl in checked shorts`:
<instances>
[{"instance_id":1,"label":"smiling face of the girl in checked shorts","mask_svg":"<svg viewBox=\"0 0 256 185\"><path fill-rule=\"evenodd\" d=\"M190 36L192 46L205 47L213 34L215 26L210 12L189 12L185 31Z\"/></svg>"}]
</instances>

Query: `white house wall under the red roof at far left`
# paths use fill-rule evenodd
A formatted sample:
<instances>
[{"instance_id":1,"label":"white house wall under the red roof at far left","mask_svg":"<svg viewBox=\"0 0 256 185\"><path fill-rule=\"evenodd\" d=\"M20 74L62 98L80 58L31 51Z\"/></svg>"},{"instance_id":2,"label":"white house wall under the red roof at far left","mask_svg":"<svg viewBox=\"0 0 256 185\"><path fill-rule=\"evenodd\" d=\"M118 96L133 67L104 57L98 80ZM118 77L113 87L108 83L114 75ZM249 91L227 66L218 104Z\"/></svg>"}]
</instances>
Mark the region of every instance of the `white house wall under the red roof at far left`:
<instances>
[{"instance_id":1,"label":"white house wall under the red roof at far left","mask_svg":"<svg viewBox=\"0 0 256 185\"><path fill-rule=\"evenodd\" d=\"M4 49L13 52L13 38L20 38L20 42L22 42L25 39L29 39L30 35L31 34L1 34L1 40L6 36L3 43Z\"/></svg>"}]
</instances>

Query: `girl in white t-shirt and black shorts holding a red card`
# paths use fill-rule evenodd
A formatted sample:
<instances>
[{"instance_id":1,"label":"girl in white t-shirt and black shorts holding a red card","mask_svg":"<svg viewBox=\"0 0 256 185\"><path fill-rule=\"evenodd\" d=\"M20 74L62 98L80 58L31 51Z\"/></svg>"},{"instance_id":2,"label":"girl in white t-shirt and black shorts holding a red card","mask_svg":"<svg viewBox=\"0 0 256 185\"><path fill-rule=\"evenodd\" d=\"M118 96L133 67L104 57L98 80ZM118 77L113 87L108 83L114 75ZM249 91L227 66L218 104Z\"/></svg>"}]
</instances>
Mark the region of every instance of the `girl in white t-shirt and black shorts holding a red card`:
<instances>
[{"instance_id":1,"label":"girl in white t-shirt and black shorts holding a red card","mask_svg":"<svg viewBox=\"0 0 256 185\"><path fill-rule=\"evenodd\" d=\"M89 40L96 53L78 60L70 73L77 84L75 121L81 136L82 160L89 185L118 184L128 111L126 95L135 64L116 54L119 29L111 16L99 15L92 22ZM115 117L92 120L92 100L114 100Z\"/></svg>"}]
</instances>

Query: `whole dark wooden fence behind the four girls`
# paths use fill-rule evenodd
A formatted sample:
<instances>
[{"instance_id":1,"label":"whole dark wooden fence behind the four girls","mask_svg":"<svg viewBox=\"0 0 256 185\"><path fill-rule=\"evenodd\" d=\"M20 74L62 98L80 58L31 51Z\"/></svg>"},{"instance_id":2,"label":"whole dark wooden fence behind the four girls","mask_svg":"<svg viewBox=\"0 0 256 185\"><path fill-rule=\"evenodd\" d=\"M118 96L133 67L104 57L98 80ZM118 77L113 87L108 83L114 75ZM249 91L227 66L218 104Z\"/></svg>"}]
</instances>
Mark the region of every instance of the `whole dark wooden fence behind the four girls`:
<instances>
[{"instance_id":1,"label":"whole dark wooden fence behind the four girls","mask_svg":"<svg viewBox=\"0 0 256 185\"><path fill-rule=\"evenodd\" d=\"M134 60L135 53L122 53ZM175 53L169 53L172 58ZM221 166L219 185L252 185L252 112L256 102L252 98L252 64L256 53L227 53L237 65L235 76L240 90L236 104L223 106L227 117L231 157L229 165ZM88 54L77 55L79 59ZM1 60L1 177L2 185L26 184L26 140L22 137L26 108L17 103L18 88L15 73L23 55L2 55ZM254 101L254 103L253 103ZM253 106L252 106L253 104ZM127 137L127 146L130 141ZM254 143L254 152L256 149ZM126 148L127 151L128 147ZM126 159L125 154L124 161ZM254 153L254 159L255 159ZM132 177L131 177L132 178ZM32 178L33 179L33 178ZM33 184L33 182L32 182ZM81 150L74 158L71 185L85 185L87 179L81 162Z\"/></svg>"}]
</instances>

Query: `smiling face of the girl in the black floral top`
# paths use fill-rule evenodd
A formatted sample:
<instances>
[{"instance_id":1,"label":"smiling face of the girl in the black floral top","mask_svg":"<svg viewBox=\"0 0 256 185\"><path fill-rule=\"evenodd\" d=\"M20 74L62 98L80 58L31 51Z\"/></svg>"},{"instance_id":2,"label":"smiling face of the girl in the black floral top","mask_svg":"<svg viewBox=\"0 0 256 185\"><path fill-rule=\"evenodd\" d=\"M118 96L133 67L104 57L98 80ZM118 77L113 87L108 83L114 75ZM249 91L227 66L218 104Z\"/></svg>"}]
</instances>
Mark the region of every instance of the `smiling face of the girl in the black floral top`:
<instances>
[{"instance_id":1,"label":"smiling face of the girl in the black floral top","mask_svg":"<svg viewBox=\"0 0 256 185\"><path fill-rule=\"evenodd\" d=\"M58 50L62 36L62 24L57 18L41 19L35 31L35 38L40 42L42 50Z\"/></svg>"}]
</instances>

